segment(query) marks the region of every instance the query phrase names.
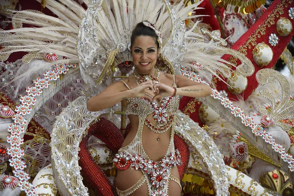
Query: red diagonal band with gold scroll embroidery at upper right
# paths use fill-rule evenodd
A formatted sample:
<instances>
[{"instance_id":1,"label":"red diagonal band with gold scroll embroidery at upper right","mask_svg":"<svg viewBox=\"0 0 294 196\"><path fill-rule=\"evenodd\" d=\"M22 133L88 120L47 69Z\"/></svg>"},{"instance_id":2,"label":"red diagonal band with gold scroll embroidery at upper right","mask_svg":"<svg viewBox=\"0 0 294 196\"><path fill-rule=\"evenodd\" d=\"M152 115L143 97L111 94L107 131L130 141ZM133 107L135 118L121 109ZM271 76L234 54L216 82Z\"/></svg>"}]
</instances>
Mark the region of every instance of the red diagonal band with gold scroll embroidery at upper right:
<instances>
[{"instance_id":1,"label":"red diagonal band with gold scroll embroidery at upper right","mask_svg":"<svg viewBox=\"0 0 294 196\"><path fill-rule=\"evenodd\" d=\"M276 61L280 58L280 55L288 45L289 41L294 35L294 31L291 31L291 33L285 37L279 36L279 45L278 47L271 47L267 45L268 39L271 33L275 33L278 35L277 32L277 22L280 20L281 17L288 18L289 19L289 9L294 5L293 0L275 0L271 3L270 7L263 13L263 15L256 21L250 28L250 30L246 31L245 34L238 39L238 41L232 46L231 49L235 49L240 51L241 53L244 53L247 58L249 58L252 62L254 62L255 67L255 73L258 72L263 67L260 67L260 65L266 65L268 62L269 64L266 66L266 68L272 68ZM294 23L293 20L291 20L291 23ZM261 44L262 43L262 44ZM274 51L274 55L272 56L271 61L269 61L270 58L260 58L259 56L263 56L263 54L260 53L260 50L258 46L263 46L265 50L270 52L270 49ZM257 48L256 48L257 47ZM255 49L256 48L256 49ZM254 50L254 51L253 51ZM255 59L254 59L255 56ZM229 56L223 56L225 60L228 60L230 62L234 62L234 64L238 65L238 62L235 60L232 60ZM257 61L257 63L255 62ZM259 60L261 63L259 63ZM255 75L247 76L248 85L246 90L244 91L244 100L246 100L256 89L258 86L258 83L255 79ZM217 89L218 90L227 90L227 86L222 83L221 81L217 82ZM236 95L232 94L231 92L228 92L228 98L238 99Z\"/></svg>"}]
</instances>

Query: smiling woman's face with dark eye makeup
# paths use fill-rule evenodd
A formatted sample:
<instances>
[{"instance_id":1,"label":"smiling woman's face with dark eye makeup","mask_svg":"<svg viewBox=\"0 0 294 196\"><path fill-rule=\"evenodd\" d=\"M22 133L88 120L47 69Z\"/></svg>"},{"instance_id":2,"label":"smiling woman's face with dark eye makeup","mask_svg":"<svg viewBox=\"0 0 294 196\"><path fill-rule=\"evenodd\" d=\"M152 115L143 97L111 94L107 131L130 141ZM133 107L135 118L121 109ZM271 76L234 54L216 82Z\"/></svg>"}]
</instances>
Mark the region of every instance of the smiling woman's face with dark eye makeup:
<instances>
[{"instance_id":1,"label":"smiling woman's face with dark eye makeup","mask_svg":"<svg viewBox=\"0 0 294 196\"><path fill-rule=\"evenodd\" d=\"M135 68L141 74L154 74L154 65L158 55L155 39L150 36L138 36L132 45L132 57Z\"/></svg>"}]
</instances>

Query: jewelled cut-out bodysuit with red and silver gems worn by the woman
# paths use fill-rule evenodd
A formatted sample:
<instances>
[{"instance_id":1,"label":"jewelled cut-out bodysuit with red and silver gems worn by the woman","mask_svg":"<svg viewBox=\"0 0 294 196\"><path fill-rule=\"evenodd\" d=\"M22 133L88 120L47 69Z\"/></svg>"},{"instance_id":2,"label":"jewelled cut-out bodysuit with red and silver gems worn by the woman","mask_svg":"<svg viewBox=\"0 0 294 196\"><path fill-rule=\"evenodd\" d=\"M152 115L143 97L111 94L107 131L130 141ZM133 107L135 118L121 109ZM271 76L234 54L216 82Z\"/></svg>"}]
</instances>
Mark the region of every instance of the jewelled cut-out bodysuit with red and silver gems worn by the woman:
<instances>
[{"instance_id":1,"label":"jewelled cut-out bodysuit with red and silver gems worn by the woman","mask_svg":"<svg viewBox=\"0 0 294 196\"><path fill-rule=\"evenodd\" d=\"M130 89L126 83L124 84ZM173 87L176 87L175 83ZM136 170L141 170L143 176L136 183L136 186L132 186L126 191L119 191L117 189L118 193L120 196L128 196L137 190L144 182L147 182L149 195L151 193L152 195L168 195L169 180L174 180L181 187L179 179L171 174L172 167L181 164L180 153L178 150L174 149L173 144L173 118L178 110L179 96L162 98L159 102L159 107L156 101L151 103L146 98L129 98L127 102L128 105L125 114L139 116L138 131L131 143L119 149L114 162L119 170L126 170L128 167L132 167ZM147 119L147 116L152 113L156 122L161 123L160 127L154 126ZM172 116L169 117L168 114L172 114ZM169 147L161 161L152 161L144 150L142 145L144 124L156 133L164 133L170 128L172 130Z\"/></svg>"}]
</instances>

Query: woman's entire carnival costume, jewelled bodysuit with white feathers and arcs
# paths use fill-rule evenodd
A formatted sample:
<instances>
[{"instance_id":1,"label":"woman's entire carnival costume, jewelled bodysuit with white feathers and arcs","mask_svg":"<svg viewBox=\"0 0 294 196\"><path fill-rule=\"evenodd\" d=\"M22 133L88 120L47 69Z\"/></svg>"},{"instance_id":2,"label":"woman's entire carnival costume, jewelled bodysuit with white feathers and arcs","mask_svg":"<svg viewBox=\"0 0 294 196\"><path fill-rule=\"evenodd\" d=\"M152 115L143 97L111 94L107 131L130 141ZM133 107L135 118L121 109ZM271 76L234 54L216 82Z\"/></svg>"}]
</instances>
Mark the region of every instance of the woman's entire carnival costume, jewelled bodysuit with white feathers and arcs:
<instances>
[{"instance_id":1,"label":"woman's entire carnival costume, jewelled bodysuit with white feathers and arcs","mask_svg":"<svg viewBox=\"0 0 294 196\"><path fill-rule=\"evenodd\" d=\"M154 24L154 26L147 25L159 35L161 48L158 61L162 66L157 66L156 69L162 72L182 74L206 84L210 83L212 75L220 81L229 78L233 73L252 75L254 67L244 54L225 48L226 42L220 36L212 36L206 29L200 30L198 22L191 21L197 16L188 13L197 9L201 1L184 6L183 0L174 5L169 0L158 0L156 3L153 0L92 0L91 3L83 0L88 7L87 10L72 0L59 1L61 3L47 0L46 5L58 18L34 11L12 11L15 12L12 17L15 29L0 31L0 40L5 45L0 50L1 60L7 59L13 52L26 51L28 54L23 57L23 62L32 66L21 76L25 75L27 80L33 79L34 86L26 88L26 94L21 97L20 104L10 115L14 123L9 125L8 132L11 134L7 140L11 144L7 150L8 155L11 156L10 166L14 167L13 173L15 178L19 179L18 185L21 190L27 195L38 194L37 188L28 181L29 175L25 172L26 165L22 161L25 154L20 144L24 142L27 122L30 122L45 101L78 77L86 83L87 93L73 100L60 113L50 135L52 167L46 169L51 167L54 183L61 195L88 195L88 188L83 184L81 172L103 196L117 194L128 196L145 182L149 195L168 195L168 181L173 180L180 185L179 180L181 180L171 175L171 168L177 166L182 177L189 160L191 168L205 173L205 177L211 180L215 195L228 196L229 183L231 186L239 186L235 182L238 181L239 174L243 176L245 174L237 171L234 175L235 170L225 166L223 156L212 138L198 126L198 123L178 110L178 96L162 98L159 104L151 103L144 98L129 98L126 108L115 105L96 113L91 113L86 108L88 97L97 95L113 81L134 72L130 62L132 60L129 50L130 36L133 27L143 21ZM190 21L187 26L186 20ZM22 28L22 23L40 27ZM212 39L208 41L206 35ZM236 67L224 61L221 59L223 54L238 58L241 64ZM79 69L73 70L72 68L75 67ZM35 76L41 73L40 77ZM21 76L16 78L16 81L22 81L18 80ZM266 83L264 81L266 78L260 76L258 79ZM38 99L40 95L42 99ZM264 138L272 142L270 136L262 132L263 128L254 125L253 120L246 116L243 110L226 98L225 93L213 89L212 97L220 99L226 114L232 113L235 117L242 118L245 123L249 122L247 124L250 124L252 130L258 129L257 135L262 133ZM210 99L201 100L212 105ZM3 110L10 114L8 108ZM123 133L116 126L122 121L121 128L124 131L126 120L113 117L112 110L121 110L123 115L139 116L136 136L126 147L121 148ZM147 119L150 114L155 124ZM104 119L103 115L109 120ZM159 162L150 160L143 148L141 139L144 125L157 133L171 130L170 145L166 155ZM91 158L87 148L91 135L97 136L117 153L113 161L118 169L131 167L140 170L143 173L142 178L130 189L122 191L113 188L105 173ZM239 136L241 137L241 135L236 137ZM292 164L291 160L290 163ZM196 165L199 167L197 168ZM42 177L41 174L40 176ZM260 187L258 189L262 190L261 192L266 192ZM247 192L251 191L250 187L247 189ZM270 193L268 195L270 196Z\"/></svg>"}]
</instances>

